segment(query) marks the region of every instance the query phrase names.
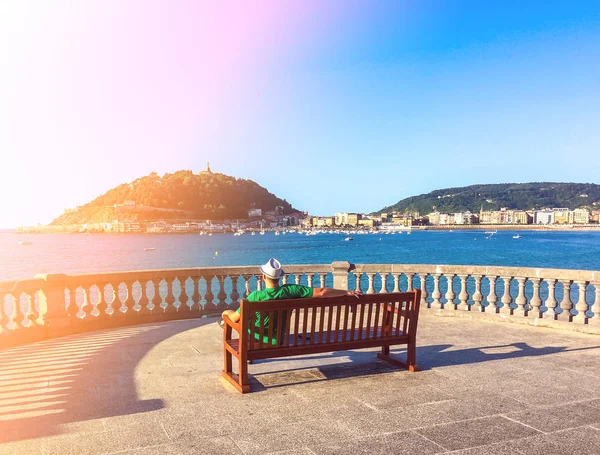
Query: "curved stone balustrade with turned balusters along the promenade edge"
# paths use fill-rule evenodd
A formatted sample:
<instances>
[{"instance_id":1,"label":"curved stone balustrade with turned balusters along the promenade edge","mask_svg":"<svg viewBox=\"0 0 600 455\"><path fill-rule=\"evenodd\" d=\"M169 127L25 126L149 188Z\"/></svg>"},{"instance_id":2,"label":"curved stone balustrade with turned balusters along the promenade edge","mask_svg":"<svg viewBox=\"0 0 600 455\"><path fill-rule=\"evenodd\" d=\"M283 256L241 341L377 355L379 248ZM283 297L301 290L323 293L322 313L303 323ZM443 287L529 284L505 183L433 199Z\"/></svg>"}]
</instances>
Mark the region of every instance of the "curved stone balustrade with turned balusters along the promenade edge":
<instances>
[{"instance_id":1,"label":"curved stone balustrade with turned balusters along the promenade edge","mask_svg":"<svg viewBox=\"0 0 600 455\"><path fill-rule=\"evenodd\" d=\"M283 283L360 289L421 289L421 308L600 333L600 272L423 264L288 265ZM197 318L237 308L260 288L256 266L38 275L0 282L0 348L140 323ZM598 311L597 311L598 313Z\"/></svg>"}]
</instances>

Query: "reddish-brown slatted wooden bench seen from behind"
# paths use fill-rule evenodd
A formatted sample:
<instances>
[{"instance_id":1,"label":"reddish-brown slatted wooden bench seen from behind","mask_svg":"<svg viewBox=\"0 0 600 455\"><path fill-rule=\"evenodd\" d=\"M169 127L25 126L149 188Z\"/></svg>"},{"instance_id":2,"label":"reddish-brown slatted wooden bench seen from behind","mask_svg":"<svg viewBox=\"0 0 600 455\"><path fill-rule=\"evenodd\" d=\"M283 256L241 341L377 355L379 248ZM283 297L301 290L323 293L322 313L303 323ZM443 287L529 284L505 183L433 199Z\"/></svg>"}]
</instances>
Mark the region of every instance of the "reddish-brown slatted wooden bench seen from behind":
<instances>
[{"instance_id":1,"label":"reddish-brown slatted wooden bench seen from behind","mask_svg":"<svg viewBox=\"0 0 600 455\"><path fill-rule=\"evenodd\" d=\"M248 362L321 352L381 347L380 359L409 371L416 365L421 291L320 299L240 302L240 320L225 316L223 377L242 393L250 391ZM265 328L264 316L270 323ZM258 324L257 324L257 321ZM234 338L234 332L237 337ZM406 344L406 362L390 346ZM233 372L233 358L237 373Z\"/></svg>"}]
</instances>

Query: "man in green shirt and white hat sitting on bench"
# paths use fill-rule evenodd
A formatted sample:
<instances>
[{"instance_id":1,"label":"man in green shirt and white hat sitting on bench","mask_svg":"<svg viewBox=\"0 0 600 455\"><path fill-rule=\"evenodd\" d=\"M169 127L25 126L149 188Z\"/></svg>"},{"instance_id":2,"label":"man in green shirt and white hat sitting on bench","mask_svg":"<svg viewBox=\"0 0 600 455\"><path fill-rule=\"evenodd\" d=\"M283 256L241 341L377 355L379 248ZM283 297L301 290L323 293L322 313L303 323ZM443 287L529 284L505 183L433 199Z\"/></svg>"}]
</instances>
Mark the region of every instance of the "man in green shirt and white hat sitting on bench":
<instances>
[{"instance_id":1,"label":"man in green shirt and white hat sitting on bench","mask_svg":"<svg viewBox=\"0 0 600 455\"><path fill-rule=\"evenodd\" d=\"M284 284L283 286L279 285L279 280L285 274L283 268L281 267L281 263L274 258L269 259L269 261L260 266L260 271L262 272L262 279L265 283L265 289L257 289L256 291L251 292L246 300L248 302L264 302L265 300L285 300L285 299L302 299L302 298L327 298L327 297L341 297L343 295L353 295L359 296L361 294L360 291L344 291L342 289L332 289L332 288L310 288L308 286L302 286L299 284ZM238 308L236 311L233 310L225 310L223 311L223 316L229 316L233 322L238 322L240 320L240 309ZM257 313L258 315L258 313ZM276 315L275 315L274 323L277 323ZM283 318L285 321L286 318ZM269 329L269 316L265 315L263 319L264 331L265 333ZM260 319L257 317L256 327L260 327ZM277 333L277 327L273 327L273 333ZM282 331L282 334L285 333L285 327ZM265 337L267 338L267 337ZM269 340L263 340L266 343L269 343ZM275 340L271 340L272 343L275 343Z\"/></svg>"}]
</instances>

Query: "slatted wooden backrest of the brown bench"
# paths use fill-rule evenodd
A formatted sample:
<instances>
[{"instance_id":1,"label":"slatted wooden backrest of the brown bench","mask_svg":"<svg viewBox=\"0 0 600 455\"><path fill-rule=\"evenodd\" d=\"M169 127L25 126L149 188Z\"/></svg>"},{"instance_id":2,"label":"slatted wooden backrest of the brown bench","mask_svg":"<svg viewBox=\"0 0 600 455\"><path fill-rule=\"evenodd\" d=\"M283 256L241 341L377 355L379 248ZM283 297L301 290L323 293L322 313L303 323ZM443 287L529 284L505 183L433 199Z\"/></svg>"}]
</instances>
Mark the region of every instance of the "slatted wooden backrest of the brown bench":
<instances>
[{"instance_id":1,"label":"slatted wooden backrest of the brown bench","mask_svg":"<svg viewBox=\"0 0 600 455\"><path fill-rule=\"evenodd\" d=\"M243 299L240 329L249 350L406 336L414 339L420 300L419 289L359 297L265 302Z\"/></svg>"}]
</instances>

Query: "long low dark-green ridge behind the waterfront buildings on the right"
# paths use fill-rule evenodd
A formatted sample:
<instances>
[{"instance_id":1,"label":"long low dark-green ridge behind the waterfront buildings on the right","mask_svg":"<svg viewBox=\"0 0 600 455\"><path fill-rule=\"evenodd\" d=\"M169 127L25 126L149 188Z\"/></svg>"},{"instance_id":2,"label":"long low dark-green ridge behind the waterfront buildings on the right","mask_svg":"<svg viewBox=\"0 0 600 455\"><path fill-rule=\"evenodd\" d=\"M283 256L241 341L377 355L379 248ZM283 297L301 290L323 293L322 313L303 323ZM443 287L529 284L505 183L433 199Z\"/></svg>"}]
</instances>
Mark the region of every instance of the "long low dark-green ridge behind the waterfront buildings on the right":
<instances>
[{"instance_id":1,"label":"long low dark-green ridge behind the waterfront buildings on the right","mask_svg":"<svg viewBox=\"0 0 600 455\"><path fill-rule=\"evenodd\" d=\"M419 212L479 212L499 210L530 210L544 207L600 208L600 185L595 183L498 183L444 188L427 194L411 196L373 213Z\"/></svg>"}]
</instances>

